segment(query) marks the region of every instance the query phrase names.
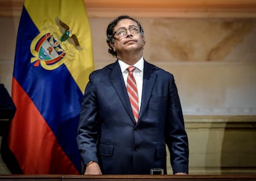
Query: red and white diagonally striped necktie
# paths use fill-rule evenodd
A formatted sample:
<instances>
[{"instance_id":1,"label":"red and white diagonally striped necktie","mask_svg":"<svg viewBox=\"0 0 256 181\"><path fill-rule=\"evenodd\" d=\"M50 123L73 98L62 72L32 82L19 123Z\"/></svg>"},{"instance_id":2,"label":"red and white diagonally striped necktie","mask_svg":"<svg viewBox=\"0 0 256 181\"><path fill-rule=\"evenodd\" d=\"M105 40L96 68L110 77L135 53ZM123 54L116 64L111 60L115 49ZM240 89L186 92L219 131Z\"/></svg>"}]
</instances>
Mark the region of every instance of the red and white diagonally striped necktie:
<instances>
[{"instance_id":1,"label":"red and white diagonally striped necktie","mask_svg":"<svg viewBox=\"0 0 256 181\"><path fill-rule=\"evenodd\" d=\"M134 113L135 123L137 123L139 119L139 96L136 81L134 79L134 75L132 74L135 68L135 66L129 66L127 68L129 74L127 77L126 89L129 95L130 105L132 106L132 112Z\"/></svg>"}]
</instances>

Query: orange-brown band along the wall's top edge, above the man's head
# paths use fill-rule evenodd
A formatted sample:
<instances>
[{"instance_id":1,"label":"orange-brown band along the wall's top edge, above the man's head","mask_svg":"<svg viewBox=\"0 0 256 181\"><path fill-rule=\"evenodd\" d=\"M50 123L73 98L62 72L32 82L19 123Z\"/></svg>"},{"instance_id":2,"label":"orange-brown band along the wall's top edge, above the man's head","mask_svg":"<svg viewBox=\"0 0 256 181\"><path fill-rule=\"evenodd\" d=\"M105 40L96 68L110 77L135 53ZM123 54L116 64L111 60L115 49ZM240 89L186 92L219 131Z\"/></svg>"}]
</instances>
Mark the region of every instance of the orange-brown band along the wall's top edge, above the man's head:
<instances>
[{"instance_id":1,"label":"orange-brown band along the wall's top edge, above the man's head","mask_svg":"<svg viewBox=\"0 0 256 181\"><path fill-rule=\"evenodd\" d=\"M89 17L256 17L254 0L84 0ZM23 0L1 0L0 17L19 17Z\"/></svg>"}]
</instances>

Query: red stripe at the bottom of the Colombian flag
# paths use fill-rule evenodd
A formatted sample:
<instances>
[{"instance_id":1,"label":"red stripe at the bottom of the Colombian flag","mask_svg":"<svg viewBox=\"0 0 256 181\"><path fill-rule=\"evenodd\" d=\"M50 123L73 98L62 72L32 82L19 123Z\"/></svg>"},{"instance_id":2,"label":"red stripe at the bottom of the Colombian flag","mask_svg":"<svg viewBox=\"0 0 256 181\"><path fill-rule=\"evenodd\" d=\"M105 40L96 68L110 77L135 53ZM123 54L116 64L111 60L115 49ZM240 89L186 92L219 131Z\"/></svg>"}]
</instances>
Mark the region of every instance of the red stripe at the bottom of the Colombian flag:
<instances>
[{"instance_id":1,"label":"red stripe at the bottom of the Colombian flag","mask_svg":"<svg viewBox=\"0 0 256 181\"><path fill-rule=\"evenodd\" d=\"M17 107L15 115L23 115L23 119L15 122L13 120L16 116L12 119L9 130L9 135L12 136L9 136L8 142L22 171L25 174L48 174L51 170L56 174L79 174L59 146L45 119L14 78L12 89L15 90L15 94L12 92L12 99ZM21 100L23 103L20 102ZM27 106L20 107L24 102ZM41 139L42 135L43 139Z\"/></svg>"}]
</instances>

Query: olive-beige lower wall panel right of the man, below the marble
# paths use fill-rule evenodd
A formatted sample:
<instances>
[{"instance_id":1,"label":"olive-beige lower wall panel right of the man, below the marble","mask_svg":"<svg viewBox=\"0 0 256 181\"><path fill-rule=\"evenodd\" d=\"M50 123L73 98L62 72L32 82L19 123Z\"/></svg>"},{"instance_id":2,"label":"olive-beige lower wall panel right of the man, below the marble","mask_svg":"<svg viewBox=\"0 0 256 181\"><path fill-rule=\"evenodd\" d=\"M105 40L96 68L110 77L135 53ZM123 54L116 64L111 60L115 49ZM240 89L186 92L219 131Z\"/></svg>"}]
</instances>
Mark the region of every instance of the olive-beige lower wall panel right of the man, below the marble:
<instances>
[{"instance_id":1,"label":"olive-beige lower wall panel right of the man, below the marble","mask_svg":"<svg viewBox=\"0 0 256 181\"><path fill-rule=\"evenodd\" d=\"M256 116L186 115L184 119L190 174L256 174Z\"/></svg>"}]
</instances>

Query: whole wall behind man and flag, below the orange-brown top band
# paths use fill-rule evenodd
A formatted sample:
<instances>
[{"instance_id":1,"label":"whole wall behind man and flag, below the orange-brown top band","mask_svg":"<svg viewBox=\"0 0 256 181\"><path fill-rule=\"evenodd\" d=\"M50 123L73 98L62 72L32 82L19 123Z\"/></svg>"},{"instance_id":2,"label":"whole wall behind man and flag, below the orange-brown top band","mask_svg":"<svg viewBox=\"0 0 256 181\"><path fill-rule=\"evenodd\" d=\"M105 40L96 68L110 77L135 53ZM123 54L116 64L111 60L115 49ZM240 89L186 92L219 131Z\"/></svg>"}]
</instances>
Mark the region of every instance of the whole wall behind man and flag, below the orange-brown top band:
<instances>
[{"instance_id":1,"label":"whole wall behind man and flag, below the orange-brown top band","mask_svg":"<svg viewBox=\"0 0 256 181\"><path fill-rule=\"evenodd\" d=\"M174 74L190 174L255 174L256 11L97 10L88 9L96 69L115 60L107 52L106 26L126 12L142 22L146 60ZM10 94L18 24L19 15L0 18L0 83ZM0 174L6 173L0 160Z\"/></svg>"}]
</instances>

